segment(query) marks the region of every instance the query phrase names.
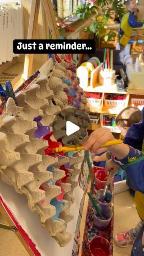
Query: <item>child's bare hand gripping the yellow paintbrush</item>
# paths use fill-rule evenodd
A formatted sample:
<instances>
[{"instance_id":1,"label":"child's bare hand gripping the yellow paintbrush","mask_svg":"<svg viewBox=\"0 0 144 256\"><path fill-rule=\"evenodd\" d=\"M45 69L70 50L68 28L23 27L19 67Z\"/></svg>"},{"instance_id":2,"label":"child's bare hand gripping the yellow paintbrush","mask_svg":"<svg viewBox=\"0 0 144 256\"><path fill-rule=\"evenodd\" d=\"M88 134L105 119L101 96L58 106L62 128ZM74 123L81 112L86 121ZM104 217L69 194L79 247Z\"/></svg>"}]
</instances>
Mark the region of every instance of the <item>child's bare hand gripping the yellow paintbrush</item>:
<instances>
[{"instance_id":1,"label":"child's bare hand gripping the yellow paintbrush","mask_svg":"<svg viewBox=\"0 0 144 256\"><path fill-rule=\"evenodd\" d=\"M91 153L100 154L109 150L112 146L100 148L108 140L114 140L114 136L108 128L99 128L90 134L88 141L85 143L84 149L90 150Z\"/></svg>"}]
</instances>

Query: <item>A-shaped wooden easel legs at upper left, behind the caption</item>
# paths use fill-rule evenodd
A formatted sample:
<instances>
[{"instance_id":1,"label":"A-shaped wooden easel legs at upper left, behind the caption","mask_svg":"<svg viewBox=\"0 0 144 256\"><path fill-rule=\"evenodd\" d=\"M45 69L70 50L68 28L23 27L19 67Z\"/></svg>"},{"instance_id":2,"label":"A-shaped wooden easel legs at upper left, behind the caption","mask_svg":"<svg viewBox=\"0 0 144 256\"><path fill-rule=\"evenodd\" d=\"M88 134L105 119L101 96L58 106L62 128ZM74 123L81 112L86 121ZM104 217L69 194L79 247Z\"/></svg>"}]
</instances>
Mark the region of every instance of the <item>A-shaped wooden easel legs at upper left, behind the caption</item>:
<instances>
[{"instance_id":1,"label":"A-shaped wooden easel legs at upper left, behind the caption","mask_svg":"<svg viewBox=\"0 0 144 256\"><path fill-rule=\"evenodd\" d=\"M60 39L60 34L58 32L58 26L56 24L56 18L54 9L52 7L51 0L41 0L46 13L46 18L48 21L48 26L52 35L52 39ZM30 11L30 20L28 26L28 36L27 39L36 39L36 27L38 24L38 14L40 10L40 0L32 0L32 6ZM32 64L33 64L34 54L26 54L24 60L24 79L26 80L32 75Z\"/></svg>"}]
</instances>

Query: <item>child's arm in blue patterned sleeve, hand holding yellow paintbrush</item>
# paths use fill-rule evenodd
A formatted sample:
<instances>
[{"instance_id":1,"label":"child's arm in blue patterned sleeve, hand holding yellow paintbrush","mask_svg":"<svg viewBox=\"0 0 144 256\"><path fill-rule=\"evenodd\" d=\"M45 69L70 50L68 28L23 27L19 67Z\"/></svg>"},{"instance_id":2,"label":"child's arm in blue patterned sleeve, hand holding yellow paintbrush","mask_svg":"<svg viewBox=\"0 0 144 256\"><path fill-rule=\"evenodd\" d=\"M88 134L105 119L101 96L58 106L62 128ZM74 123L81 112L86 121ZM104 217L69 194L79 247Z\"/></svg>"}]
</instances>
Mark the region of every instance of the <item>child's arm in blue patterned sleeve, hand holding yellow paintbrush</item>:
<instances>
[{"instance_id":1,"label":"child's arm in blue patterned sleeve, hand holding yellow paintbrush","mask_svg":"<svg viewBox=\"0 0 144 256\"><path fill-rule=\"evenodd\" d=\"M144 153L123 143L100 148L108 140L114 140L112 133L108 128L99 128L92 132L84 148L97 154L106 151L106 148L110 150L114 162L126 171L128 186L144 193Z\"/></svg>"}]
</instances>

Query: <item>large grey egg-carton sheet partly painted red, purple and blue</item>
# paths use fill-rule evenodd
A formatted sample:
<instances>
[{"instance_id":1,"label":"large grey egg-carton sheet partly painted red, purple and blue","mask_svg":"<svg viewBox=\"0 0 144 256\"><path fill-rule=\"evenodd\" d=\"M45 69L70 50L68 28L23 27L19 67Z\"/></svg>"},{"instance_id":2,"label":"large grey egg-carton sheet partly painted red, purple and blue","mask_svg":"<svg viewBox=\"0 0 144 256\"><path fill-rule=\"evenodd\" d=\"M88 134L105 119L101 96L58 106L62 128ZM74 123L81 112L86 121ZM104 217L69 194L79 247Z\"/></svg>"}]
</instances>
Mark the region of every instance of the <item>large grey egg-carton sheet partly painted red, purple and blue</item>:
<instances>
[{"instance_id":1,"label":"large grey egg-carton sheet partly painted red, purple and blue","mask_svg":"<svg viewBox=\"0 0 144 256\"><path fill-rule=\"evenodd\" d=\"M75 179L81 172L78 164L83 157L81 152L47 154L47 148L67 143L64 138L56 141L52 132L52 122L61 110L72 106L77 112L89 113L89 108L79 80L71 71L74 63L60 60L48 76L36 73L30 84L17 90L18 106L11 97L5 103L0 116L0 178L26 195L41 226L63 247L71 240L66 228L74 218L70 206L74 203L73 191L78 185ZM65 88L69 90L66 92ZM72 96L67 94L70 90ZM77 116L74 118L77 124L82 122ZM77 140L87 134L86 120L83 123Z\"/></svg>"}]
</instances>

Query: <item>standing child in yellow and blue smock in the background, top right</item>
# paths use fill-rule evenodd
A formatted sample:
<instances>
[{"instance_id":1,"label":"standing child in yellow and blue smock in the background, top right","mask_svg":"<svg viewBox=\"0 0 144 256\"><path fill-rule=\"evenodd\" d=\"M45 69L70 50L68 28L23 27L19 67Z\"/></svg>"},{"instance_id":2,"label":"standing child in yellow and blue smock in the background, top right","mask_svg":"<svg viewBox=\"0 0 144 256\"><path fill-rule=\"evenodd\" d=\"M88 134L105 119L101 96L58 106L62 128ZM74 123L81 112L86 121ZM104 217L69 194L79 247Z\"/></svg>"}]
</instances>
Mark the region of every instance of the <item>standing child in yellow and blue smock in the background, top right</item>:
<instances>
[{"instance_id":1,"label":"standing child in yellow and blue smock in the background, top right","mask_svg":"<svg viewBox=\"0 0 144 256\"><path fill-rule=\"evenodd\" d=\"M136 22L134 15L132 14L137 7L135 0L127 0L125 1L125 5L127 8L126 14L122 17L122 21L120 24L120 30L118 32L120 50L124 50L125 46L130 41L132 36L133 28L142 27L142 22Z\"/></svg>"}]
</instances>

